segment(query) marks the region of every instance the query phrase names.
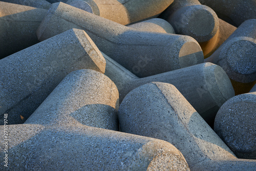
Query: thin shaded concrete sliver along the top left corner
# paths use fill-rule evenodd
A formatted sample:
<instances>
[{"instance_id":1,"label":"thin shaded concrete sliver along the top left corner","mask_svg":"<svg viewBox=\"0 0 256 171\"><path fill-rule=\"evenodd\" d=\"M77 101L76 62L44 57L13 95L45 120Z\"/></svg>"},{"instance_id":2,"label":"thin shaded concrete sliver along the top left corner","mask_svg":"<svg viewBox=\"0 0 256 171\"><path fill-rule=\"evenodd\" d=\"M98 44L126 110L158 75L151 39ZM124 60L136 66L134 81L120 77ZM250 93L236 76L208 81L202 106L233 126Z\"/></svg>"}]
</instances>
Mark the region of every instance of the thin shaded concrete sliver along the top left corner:
<instances>
[{"instance_id":1,"label":"thin shaded concrete sliver along the top left corner","mask_svg":"<svg viewBox=\"0 0 256 171\"><path fill-rule=\"evenodd\" d=\"M46 0L1 0L2 2L26 5L35 8L49 9L51 7L51 3Z\"/></svg>"}]
</instances>

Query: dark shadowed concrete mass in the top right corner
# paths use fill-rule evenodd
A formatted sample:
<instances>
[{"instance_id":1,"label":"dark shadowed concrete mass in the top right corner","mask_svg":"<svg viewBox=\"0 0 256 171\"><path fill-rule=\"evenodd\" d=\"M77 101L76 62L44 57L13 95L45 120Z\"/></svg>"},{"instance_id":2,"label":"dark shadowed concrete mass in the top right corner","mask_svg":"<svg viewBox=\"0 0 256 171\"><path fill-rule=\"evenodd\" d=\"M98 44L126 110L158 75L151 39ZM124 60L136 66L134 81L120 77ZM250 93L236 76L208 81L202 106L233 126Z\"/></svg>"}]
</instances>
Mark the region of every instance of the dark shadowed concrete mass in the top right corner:
<instances>
[{"instance_id":1,"label":"dark shadowed concrete mass in the top right corner","mask_svg":"<svg viewBox=\"0 0 256 171\"><path fill-rule=\"evenodd\" d=\"M256 1L254 0L198 0L212 8L226 22L238 27L248 19L256 19Z\"/></svg>"}]
</instances>

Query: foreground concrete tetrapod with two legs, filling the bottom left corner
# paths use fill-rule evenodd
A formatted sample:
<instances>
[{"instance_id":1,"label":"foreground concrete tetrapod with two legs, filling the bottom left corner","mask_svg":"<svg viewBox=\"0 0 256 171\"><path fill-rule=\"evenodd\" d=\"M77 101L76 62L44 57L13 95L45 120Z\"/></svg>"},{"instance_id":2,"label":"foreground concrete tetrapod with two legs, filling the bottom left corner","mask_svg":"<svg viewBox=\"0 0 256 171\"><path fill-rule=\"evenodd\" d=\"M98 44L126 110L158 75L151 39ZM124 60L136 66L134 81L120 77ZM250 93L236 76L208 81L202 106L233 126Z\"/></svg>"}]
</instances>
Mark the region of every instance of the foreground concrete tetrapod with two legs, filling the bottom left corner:
<instances>
[{"instance_id":1,"label":"foreground concrete tetrapod with two legs, filling the bottom left corner","mask_svg":"<svg viewBox=\"0 0 256 171\"><path fill-rule=\"evenodd\" d=\"M25 124L10 125L9 169L189 170L168 142L105 130L118 130L117 102L115 84L102 73L70 73Z\"/></svg>"}]
</instances>

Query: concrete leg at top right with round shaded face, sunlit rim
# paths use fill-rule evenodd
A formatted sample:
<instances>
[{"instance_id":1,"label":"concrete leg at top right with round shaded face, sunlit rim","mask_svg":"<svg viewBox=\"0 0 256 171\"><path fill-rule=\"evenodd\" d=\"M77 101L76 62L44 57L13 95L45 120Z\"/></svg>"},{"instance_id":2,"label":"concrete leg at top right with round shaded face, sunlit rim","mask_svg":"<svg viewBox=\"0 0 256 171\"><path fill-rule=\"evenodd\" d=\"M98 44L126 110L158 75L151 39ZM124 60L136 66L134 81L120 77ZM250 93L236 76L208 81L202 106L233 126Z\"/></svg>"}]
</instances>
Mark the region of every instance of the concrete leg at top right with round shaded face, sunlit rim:
<instances>
[{"instance_id":1,"label":"concrete leg at top right with round shaded face, sunlit rim","mask_svg":"<svg viewBox=\"0 0 256 171\"><path fill-rule=\"evenodd\" d=\"M160 17L167 20L177 34L191 36L198 42L210 40L219 28L214 10L198 0L174 1Z\"/></svg>"}]
</instances>

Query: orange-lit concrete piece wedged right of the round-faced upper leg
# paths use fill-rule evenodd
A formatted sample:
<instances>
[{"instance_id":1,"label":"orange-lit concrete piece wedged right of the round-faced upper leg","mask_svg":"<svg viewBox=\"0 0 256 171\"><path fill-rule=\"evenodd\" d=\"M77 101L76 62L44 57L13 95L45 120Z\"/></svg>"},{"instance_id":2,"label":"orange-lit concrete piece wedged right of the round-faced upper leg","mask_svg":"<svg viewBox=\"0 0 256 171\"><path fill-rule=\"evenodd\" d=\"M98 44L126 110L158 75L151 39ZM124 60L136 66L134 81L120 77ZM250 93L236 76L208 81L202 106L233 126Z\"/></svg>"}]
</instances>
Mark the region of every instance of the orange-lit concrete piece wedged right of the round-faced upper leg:
<instances>
[{"instance_id":1,"label":"orange-lit concrete piece wedged right of the round-faced upper leg","mask_svg":"<svg viewBox=\"0 0 256 171\"><path fill-rule=\"evenodd\" d=\"M215 36L208 41L199 43L204 53L204 58L212 55L236 29L236 27L219 18L219 29Z\"/></svg>"}]
</instances>

